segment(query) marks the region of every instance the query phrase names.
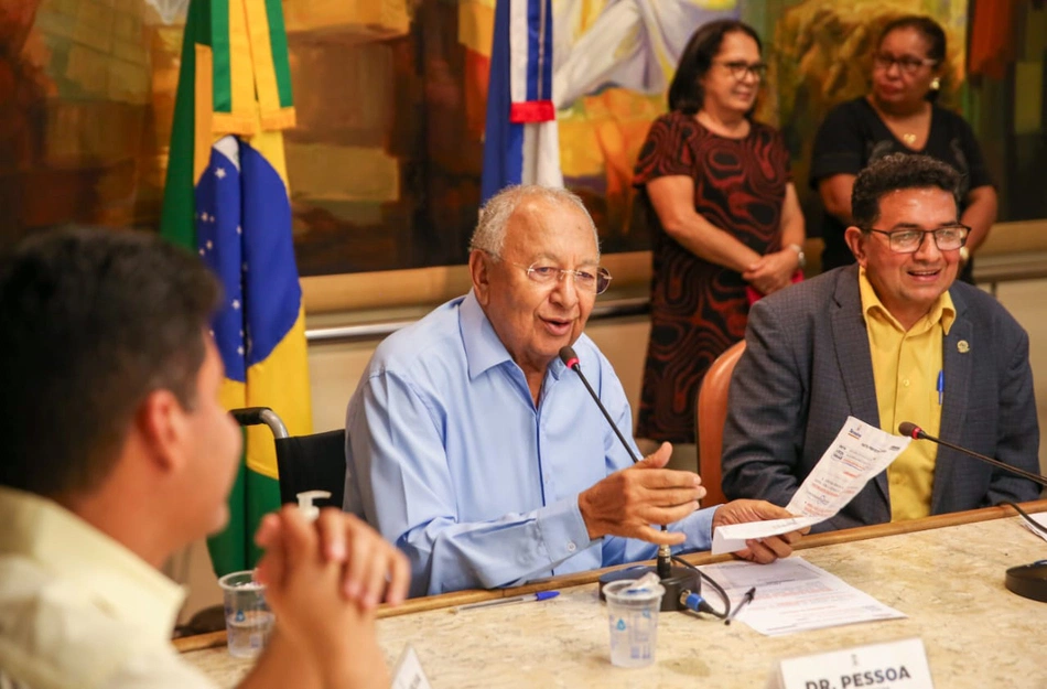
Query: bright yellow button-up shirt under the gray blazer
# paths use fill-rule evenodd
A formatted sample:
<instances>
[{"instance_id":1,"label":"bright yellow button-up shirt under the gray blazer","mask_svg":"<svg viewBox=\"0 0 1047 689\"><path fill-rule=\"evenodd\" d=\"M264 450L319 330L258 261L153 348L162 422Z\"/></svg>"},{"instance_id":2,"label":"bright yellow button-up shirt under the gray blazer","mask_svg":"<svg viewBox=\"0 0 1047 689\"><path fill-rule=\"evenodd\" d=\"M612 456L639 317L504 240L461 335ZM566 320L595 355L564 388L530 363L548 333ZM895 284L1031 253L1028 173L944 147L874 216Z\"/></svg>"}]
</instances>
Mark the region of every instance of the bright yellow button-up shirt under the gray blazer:
<instances>
[{"instance_id":1,"label":"bright yellow button-up shirt under the gray blazer","mask_svg":"<svg viewBox=\"0 0 1047 689\"><path fill-rule=\"evenodd\" d=\"M956 320L949 292L908 331L883 305L865 271L859 272L862 313L876 383L879 428L898 432L898 423L914 421L931 435L941 423L941 341ZM916 519L930 514L938 445L914 442L887 467L891 520Z\"/></svg>"}]
</instances>

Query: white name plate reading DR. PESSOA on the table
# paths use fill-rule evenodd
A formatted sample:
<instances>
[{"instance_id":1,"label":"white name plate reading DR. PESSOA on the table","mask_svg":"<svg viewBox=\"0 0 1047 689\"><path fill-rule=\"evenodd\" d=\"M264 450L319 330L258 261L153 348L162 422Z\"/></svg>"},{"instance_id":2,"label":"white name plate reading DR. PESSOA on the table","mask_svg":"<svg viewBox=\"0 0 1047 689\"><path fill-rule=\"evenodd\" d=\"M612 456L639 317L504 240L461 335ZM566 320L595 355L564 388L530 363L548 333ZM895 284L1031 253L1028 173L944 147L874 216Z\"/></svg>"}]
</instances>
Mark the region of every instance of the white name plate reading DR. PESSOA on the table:
<instances>
[{"instance_id":1,"label":"white name plate reading DR. PESSOA on the table","mask_svg":"<svg viewBox=\"0 0 1047 689\"><path fill-rule=\"evenodd\" d=\"M933 689L924 642L889 644L788 658L778 665L767 689Z\"/></svg>"}]
</instances>

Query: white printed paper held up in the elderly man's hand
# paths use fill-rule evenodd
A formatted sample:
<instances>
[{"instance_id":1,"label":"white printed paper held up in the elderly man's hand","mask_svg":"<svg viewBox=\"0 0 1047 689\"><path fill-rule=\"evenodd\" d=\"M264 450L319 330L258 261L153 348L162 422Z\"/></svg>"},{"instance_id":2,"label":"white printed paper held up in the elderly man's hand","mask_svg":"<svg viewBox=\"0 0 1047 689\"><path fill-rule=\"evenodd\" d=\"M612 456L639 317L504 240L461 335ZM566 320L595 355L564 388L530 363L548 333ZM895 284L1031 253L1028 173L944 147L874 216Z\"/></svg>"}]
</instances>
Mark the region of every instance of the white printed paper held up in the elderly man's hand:
<instances>
[{"instance_id":1,"label":"white printed paper held up in the elderly man's hand","mask_svg":"<svg viewBox=\"0 0 1047 689\"><path fill-rule=\"evenodd\" d=\"M910 438L892 435L848 417L835 440L786 506L795 518L722 526L713 532L713 553L735 552L745 548L746 539L778 536L834 516L870 478L887 469L909 442Z\"/></svg>"}]
</instances>

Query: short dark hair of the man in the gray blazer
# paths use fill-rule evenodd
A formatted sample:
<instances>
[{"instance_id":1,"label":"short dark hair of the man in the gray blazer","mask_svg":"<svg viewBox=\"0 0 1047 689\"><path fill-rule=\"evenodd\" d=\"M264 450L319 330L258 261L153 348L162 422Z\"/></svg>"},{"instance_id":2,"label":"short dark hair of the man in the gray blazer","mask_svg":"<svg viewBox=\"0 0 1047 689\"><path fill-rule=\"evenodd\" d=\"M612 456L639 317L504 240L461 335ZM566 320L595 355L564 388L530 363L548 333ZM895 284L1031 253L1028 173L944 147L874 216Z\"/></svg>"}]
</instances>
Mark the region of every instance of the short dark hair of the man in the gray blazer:
<instances>
[{"instance_id":1,"label":"short dark hair of the man in the gray blazer","mask_svg":"<svg viewBox=\"0 0 1047 689\"><path fill-rule=\"evenodd\" d=\"M879 219L879 200L905 189L938 187L960 204L960 174L947 163L927 155L892 153L862 170L851 190L851 217L868 232Z\"/></svg>"}]
</instances>

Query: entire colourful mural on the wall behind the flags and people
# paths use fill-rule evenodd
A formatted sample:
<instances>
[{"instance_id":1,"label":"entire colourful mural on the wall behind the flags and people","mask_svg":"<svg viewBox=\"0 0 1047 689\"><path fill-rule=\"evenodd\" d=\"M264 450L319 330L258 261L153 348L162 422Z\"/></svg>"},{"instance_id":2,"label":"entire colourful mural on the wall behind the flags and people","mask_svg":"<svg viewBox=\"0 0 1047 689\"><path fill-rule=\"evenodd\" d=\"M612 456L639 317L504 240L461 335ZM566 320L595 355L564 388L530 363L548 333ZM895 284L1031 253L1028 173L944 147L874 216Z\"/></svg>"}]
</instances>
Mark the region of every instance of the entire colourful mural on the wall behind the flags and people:
<instances>
[{"instance_id":1,"label":"entire colourful mural on the wall behind the flags and people","mask_svg":"<svg viewBox=\"0 0 1047 689\"><path fill-rule=\"evenodd\" d=\"M187 0L0 2L0 244L64 222L155 227ZM462 263L476 218L496 0L284 0L287 133L303 276ZM605 251L648 246L632 169L694 29L765 39L758 117L797 186L828 109L865 91L878 28L933 15L943 101L967 104L967 0L553 0L565 183ZM991 144L989 147L991 149Z\"/></svg>"}]
</instances>

